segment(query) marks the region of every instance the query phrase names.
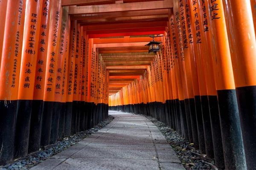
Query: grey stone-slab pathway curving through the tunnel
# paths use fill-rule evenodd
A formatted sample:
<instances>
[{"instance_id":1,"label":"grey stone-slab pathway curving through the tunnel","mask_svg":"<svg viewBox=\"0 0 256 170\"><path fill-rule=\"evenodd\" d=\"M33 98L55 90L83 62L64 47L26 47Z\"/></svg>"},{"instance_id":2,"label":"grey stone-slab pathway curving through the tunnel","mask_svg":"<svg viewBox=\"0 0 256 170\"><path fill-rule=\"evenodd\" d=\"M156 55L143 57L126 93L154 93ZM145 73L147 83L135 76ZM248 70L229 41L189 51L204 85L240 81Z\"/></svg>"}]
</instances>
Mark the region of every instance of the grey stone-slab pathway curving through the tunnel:
<instances>
[{"instance_id":1,"label":"grey stone-slab pathway curving through the tunnel","mask_svg":"<svg viewBox=\"0 0 256 170\"><path fill-rule=\"evenodd\" d=\"M185 170L160 130L143 116L115 119L31 170Z\"/></svg>"}]
</instances>

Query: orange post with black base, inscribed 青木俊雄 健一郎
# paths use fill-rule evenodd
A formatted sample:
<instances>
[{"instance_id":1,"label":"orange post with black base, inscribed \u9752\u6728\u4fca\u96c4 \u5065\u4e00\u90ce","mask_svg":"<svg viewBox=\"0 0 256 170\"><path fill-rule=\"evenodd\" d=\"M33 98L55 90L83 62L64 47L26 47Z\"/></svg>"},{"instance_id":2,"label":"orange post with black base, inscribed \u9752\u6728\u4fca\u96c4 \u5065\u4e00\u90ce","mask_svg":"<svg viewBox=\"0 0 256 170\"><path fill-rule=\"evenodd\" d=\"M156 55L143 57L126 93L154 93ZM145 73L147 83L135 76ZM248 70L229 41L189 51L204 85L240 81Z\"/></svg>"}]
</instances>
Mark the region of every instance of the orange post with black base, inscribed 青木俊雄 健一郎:
<instances>
[{"instance_id":1,"label":"orange post with black base, inscribed \u9752\u6728\u4fca\u96c4 \u5065\u4e00\u90ce","mask_svg":"<svg viewBox=\"0 0 256 170\"><path fill-rule=\"evenodd\" d=\"M58 72L58 53L59 53L59 40L61 33L61 0L52 1L52 8L50 14L49 25L49 39L47 48L47 60L46 60L46 74L44 80L44 105L42 114L42 128L41 128L41 147L50 144L51 127L52 127L52 113L53 106L56 102L55 87L60 88L60 84L56 83L56 75ZM57 80L58 82L58 80ZM58 113L56 113L58 114ZM54 120L53 120L54 121ZM54 125L56 126L56 125ZM57 127L55 127L57 128ZM54 135L57 138L57 134Z\"/></svg>"}]
</instances>

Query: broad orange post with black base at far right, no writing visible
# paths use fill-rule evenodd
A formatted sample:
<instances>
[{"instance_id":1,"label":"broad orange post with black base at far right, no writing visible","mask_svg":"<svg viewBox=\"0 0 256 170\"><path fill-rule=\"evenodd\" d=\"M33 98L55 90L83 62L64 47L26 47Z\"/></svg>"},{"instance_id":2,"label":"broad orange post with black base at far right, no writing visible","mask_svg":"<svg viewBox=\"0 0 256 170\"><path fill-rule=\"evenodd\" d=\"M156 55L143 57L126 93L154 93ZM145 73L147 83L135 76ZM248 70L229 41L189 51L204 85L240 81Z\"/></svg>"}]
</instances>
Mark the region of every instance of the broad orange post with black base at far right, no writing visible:
<instances>
[{"instance_id":1,"label":"broad orange post with black base at far right, no writing visible","mask_svg":"<svg viewBox=\"0 0 256 170\"><path fill-rule=\"evenodd\" d=\"M252 25L253 19L256 20L256 1L250 4L249 1L224 0L223 5L224 10L219 6L218 11L224 11L227 23L247 169L256 169L253 159L256 156L253 137L256 133L256 38Z\"/></svg>"}]
</instances>

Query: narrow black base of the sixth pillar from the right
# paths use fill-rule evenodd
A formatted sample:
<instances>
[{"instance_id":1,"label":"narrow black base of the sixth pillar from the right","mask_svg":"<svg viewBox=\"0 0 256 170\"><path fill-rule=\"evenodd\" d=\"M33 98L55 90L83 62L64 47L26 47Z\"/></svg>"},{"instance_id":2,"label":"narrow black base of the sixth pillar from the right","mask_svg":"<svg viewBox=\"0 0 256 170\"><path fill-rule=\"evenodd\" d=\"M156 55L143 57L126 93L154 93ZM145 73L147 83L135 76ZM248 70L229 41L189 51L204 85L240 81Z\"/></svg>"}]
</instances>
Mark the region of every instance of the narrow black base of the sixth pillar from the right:
<instances>
[{"instance_id":1,"label":"narrow black base of the sixth pillar from the right","mask_svg":"<svg viewBox=\"0 0 256 170\"><path fill-rule=\"evenodd\" d=\"M190 108L190 116L191 116L191 129L193 133L193 143L194 143L194 147L196 149L199 149L198 128L197 128L196 111L195 111L195 99L189 99L189 108Z\"/></svg>"}]
</instances>

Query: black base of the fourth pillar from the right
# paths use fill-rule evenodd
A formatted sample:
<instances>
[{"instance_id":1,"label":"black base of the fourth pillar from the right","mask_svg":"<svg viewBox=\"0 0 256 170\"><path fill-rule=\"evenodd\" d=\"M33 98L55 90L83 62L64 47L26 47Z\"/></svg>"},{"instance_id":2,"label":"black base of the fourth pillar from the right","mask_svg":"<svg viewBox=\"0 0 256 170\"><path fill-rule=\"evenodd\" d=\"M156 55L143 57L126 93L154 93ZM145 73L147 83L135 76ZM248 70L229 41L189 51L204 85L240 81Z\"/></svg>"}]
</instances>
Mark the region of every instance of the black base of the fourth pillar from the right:
<instances>
[{"instance_id":1,"label":"black base of the fourth pillar from the right","mask_svg":"<svg viewBox=\"0 0 256 170\"><path fill-rule=\"evenodd\" d=\"M212 144L212 128L211 118L209 112L208 96L201 96L201 105L203 113L203 124L204 124L204 140L206 155L210 158L214 158L213 144Z\"/></svg>"}]
</instances>

